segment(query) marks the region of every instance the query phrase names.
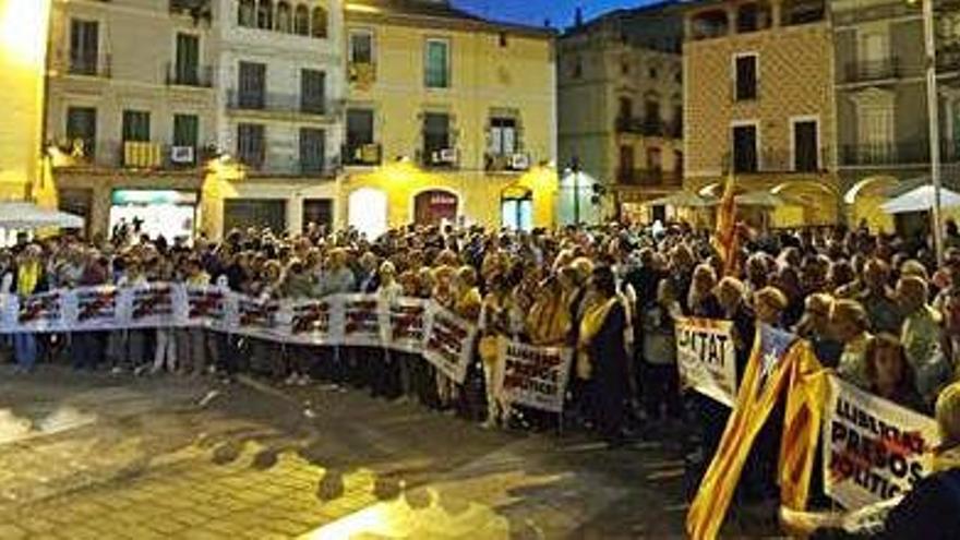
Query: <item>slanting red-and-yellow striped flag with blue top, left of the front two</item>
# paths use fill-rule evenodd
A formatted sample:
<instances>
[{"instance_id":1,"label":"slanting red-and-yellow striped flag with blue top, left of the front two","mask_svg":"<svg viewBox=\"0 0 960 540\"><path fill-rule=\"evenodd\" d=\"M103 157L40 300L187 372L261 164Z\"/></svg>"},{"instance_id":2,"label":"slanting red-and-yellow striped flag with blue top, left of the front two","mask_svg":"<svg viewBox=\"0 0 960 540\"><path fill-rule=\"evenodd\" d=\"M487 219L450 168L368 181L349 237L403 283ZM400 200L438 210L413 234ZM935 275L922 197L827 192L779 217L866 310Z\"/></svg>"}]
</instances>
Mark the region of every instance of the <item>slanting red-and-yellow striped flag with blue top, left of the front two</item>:
<instances>
[{"instance_id":1,"label":"slanting red-and-yellow striped flag with blue top, left of the front two","mask_svg":"<svg viewBox=\"0 0 960 540\"><path fill-rule=\"evenodd\" d=\"M757 325L733 412L686 516L686 531L694 540L717 538L754 440L787 387L793 363L804 355L797 343L793 334Z\"/></svg>"}]
</instances>

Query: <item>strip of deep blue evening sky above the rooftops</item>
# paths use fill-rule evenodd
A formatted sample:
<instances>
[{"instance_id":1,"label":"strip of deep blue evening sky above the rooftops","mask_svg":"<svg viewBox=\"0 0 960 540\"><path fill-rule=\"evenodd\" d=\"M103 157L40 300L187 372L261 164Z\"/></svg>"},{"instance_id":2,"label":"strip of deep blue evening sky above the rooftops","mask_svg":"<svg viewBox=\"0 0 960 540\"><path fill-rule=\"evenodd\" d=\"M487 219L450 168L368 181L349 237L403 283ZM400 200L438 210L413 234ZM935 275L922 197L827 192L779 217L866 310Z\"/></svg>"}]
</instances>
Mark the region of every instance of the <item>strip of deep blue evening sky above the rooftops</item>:
<instances>
[{"instance_id":1,"label":"strip of deep blue evening sky above the rooftops","mask_svg":"<svg viewBox=\"0 0 960 540\"><path fill-rule=\"evenodd\" d=\"M584 19L590 20L617 8L635 8L650 0L453 0L458 8L478 15L515 23L540 26L550 19L554 27L568 26L574 10L584 9Z\"/></svg>"}]
</instances>

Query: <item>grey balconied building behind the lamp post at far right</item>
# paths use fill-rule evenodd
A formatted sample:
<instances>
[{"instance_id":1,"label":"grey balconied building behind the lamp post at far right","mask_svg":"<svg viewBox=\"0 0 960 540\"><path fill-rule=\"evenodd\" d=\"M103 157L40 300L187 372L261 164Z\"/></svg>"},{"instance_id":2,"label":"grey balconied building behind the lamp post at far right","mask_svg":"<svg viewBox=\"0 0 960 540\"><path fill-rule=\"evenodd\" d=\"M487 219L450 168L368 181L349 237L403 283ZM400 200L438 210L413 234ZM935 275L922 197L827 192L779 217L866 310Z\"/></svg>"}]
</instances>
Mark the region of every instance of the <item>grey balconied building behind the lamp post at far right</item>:
<instances>
[{"instance_id":1,"label":"grey balconied building behind the lamp post at far right","mask_svg":"<svg viewBox=\"0 0 960 540\"><path fill-rule=\"evenodd\" d=\"M891 231L879 205L929 177L921 7L890 0L831 2L839 171L852 224ZM960 172L960 3L937 2L940 159L947 185ZM922 216L913 226L923 225ZM911 224L901 223L908 228Z\"/></svg>"}]
</instances>

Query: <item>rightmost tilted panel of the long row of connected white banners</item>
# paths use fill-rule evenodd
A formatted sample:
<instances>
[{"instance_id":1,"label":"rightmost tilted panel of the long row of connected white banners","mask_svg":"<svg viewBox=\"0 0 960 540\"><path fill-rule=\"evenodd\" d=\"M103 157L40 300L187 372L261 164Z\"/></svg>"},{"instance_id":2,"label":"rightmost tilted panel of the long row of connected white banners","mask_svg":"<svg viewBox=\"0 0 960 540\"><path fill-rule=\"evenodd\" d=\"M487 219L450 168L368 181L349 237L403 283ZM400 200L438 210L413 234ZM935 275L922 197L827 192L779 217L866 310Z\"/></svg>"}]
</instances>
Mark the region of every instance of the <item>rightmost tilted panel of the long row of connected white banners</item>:
<instances>
[{"instance_id":1,"label":"rightmost tilted panel of the long row of connected white banners","mask_svg":"<svg viewBox=\"0 0 960 540\"><path fill-rule=\"evenodd\" d=\"M441 373L463 383L473 355L477 328L440 305L431 309L423 358Z\"/></svg>"}]
</instances>

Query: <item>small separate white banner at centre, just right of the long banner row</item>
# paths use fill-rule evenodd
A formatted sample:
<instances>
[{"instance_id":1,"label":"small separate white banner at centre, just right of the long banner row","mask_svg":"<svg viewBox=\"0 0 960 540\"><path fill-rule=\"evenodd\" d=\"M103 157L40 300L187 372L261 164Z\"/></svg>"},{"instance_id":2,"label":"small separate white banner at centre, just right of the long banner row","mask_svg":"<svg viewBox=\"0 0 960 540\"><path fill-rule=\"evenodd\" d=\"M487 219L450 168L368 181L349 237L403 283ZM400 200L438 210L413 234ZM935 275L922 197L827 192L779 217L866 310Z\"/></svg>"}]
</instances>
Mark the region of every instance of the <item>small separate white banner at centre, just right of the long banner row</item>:
<instances>
[{"instance_id":1,"label":"small separate white banner at centre, just right of the long banner row","mask_svg":"<svg viewBox=\"0 0 960 540\"><path fill-rule=\"evenodd\" d=\"M562 412L573 352L511 341L506 337L500 338L499 346L494 395L505 403Z\"/></svg>"}]
</instances>

